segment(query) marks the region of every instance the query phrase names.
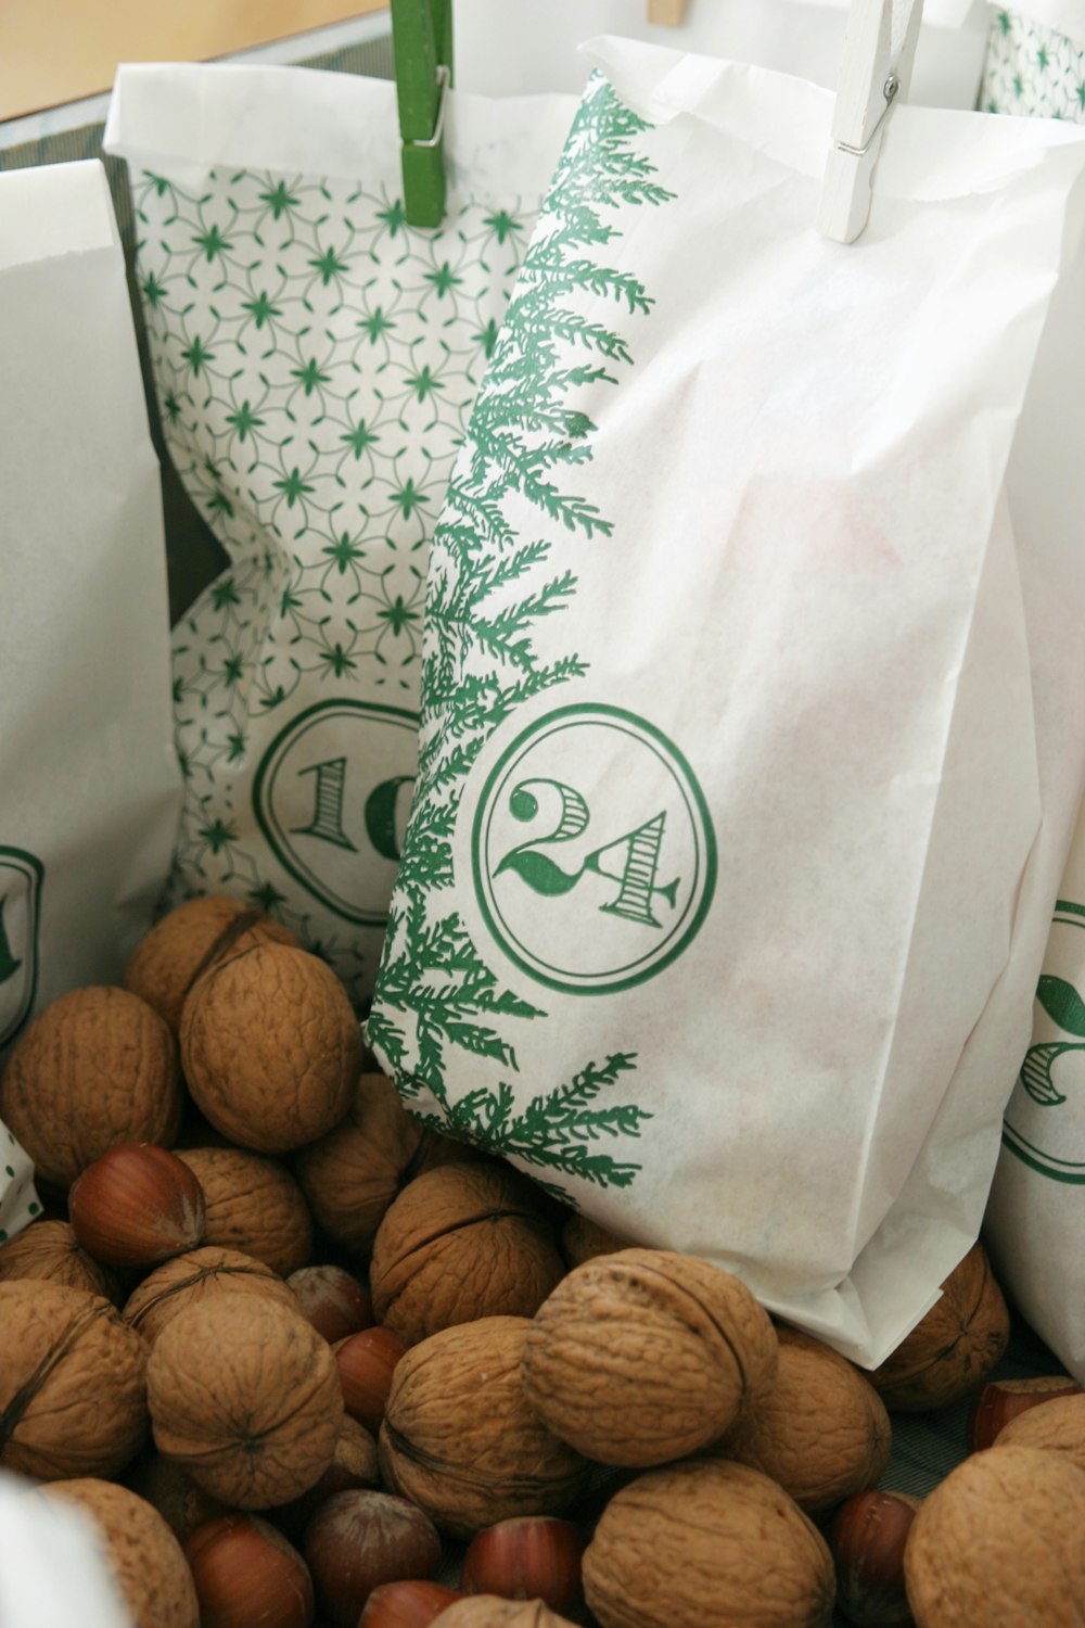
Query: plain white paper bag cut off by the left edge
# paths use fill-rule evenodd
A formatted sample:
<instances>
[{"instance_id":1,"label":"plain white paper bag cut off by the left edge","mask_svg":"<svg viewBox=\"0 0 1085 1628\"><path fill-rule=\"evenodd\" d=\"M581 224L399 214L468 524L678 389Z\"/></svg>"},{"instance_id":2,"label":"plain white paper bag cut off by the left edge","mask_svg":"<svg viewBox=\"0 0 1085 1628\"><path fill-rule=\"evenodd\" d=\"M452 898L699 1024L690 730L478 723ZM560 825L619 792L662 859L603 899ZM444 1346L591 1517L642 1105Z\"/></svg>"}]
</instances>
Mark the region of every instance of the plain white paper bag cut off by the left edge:
<instances>
[{"instance_id":1,"label":"plain white paper bag cut off by the left edge","mask_svg":"<svg viewBox=\"0 0 1085 1628\"><path fill-rule=\"evenodd\" d=\"M0 358L2 1053L54 996L120 982L181 806L159 474L101 164L0 176Z\"/></svg>"}]
</instances>

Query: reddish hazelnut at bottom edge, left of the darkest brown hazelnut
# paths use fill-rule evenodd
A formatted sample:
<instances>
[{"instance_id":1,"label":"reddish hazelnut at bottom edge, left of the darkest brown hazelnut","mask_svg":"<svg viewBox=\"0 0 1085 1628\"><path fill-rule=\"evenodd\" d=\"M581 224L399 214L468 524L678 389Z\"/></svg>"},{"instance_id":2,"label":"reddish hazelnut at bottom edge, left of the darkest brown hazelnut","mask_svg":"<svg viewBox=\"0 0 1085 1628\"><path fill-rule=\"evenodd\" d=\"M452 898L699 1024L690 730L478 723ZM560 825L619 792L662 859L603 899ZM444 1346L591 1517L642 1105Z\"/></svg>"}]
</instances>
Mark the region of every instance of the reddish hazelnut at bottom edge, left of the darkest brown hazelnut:
<instances>
[{"instance_id":1,"label":"reddish hazelnut at bottom edge, left of the darkest brown hazelnut","mask_svg":"<svg viewBox=\"0 0 1085 1628\"><path fill-rule=\"evenodd\" d=\"M189 1537L184 1555L200 1628L309 1628L312 1579L298 1550L257 1516L223 1514Z\"/></svg>"}]
</instances>

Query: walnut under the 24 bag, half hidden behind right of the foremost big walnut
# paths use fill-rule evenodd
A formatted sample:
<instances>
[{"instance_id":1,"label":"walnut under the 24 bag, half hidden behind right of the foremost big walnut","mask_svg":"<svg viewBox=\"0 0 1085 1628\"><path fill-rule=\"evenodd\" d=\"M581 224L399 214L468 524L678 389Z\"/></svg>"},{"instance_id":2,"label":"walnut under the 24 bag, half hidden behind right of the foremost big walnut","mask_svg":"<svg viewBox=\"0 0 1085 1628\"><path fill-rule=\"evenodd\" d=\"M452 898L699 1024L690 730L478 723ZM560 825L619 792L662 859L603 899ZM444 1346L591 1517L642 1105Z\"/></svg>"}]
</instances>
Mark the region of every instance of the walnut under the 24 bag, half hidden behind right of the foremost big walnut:
<instances>
[{"instance_id":1,"label":"walnut under the 24 bag, half hidden behind right of the foremost big walnut","mask_svg":"<svg viewBox=\"0 0 1085 1628\"><path fill-rule=\"evenodd\" d=\"M817 1516L874 1486L890 1441L885 1403L859 1369L820 1340L781 1328L773 1389L708 1452L761 1470Z\"/></svg>"}]
</instances>

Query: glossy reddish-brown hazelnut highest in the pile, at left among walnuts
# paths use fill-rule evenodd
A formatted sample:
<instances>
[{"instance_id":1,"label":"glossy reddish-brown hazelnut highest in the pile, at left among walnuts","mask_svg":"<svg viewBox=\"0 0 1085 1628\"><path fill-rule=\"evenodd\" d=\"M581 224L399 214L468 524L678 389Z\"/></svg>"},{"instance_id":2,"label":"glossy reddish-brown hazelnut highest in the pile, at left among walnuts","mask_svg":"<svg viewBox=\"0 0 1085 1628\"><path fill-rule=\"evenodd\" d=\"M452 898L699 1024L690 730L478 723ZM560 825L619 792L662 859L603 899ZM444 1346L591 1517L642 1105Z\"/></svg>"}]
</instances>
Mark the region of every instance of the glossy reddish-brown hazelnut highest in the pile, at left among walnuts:
<instances>
[{"instance_id":1,"label":"glossy reddish-brown hazelnut highest in the pile, at left among walnuts","mask_svg":"<svg viewBox=\"0 0 1085 1628\"><path fill-rule=\"evenodd\" d=\"M111 1148L78 1175L68 1214L83 1249L107 1267L153 1267L203 1237L203 1188L153 1143Z\"/></svg>"}]
</instances>

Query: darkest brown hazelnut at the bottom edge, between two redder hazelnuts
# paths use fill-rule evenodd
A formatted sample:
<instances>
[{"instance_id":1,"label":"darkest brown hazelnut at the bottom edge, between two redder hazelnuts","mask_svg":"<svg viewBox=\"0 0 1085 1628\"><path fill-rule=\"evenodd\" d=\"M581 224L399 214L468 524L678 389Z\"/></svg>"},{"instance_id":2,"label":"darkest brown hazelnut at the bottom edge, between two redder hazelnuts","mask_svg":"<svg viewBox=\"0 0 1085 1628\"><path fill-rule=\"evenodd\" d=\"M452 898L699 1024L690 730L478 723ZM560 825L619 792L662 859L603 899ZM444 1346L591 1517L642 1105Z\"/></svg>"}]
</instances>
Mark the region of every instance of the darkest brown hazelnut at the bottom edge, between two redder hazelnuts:
<instances>
[{"instance_id":1,"label":"darkest brown hazelnut at the bottom edge, between two redder hazelnuts","mask_svg":"<svg viewBox=\"0 0 1085 1628\"><path fill-rule=\"evenodd\" d=\"M320 1613L335 1628L355 1628L382 1582L431 1578L441 1563L433 1522L387 1493L337 1493L317 1509L303 1538Z\"/></svg>"}]
</instances>

